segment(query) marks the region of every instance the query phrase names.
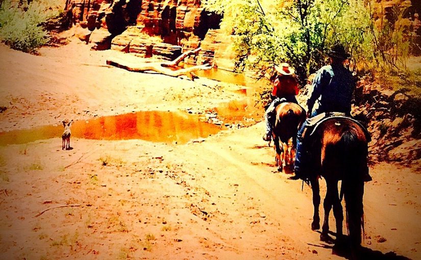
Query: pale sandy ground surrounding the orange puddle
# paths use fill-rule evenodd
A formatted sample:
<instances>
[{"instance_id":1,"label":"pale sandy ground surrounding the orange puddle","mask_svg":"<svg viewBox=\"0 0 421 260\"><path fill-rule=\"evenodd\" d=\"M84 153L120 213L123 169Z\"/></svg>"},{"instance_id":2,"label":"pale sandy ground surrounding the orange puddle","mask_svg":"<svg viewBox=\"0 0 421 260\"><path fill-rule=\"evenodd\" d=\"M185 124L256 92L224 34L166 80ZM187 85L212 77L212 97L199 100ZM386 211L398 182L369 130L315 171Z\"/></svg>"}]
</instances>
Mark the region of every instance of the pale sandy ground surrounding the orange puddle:
<instances>
[{"instance_id":1,"label":"pale sandy ground surrounding the orange puddle","mask_svg":"<svg viewBox=\"0 0 421 260\"><path fill-rule=\"evenodd\" d=\"M0 53L2 131L132 111L204 113L241 98L213 81L103 67L119 54L77 42L41 57L4 46ZM276 171L262 129L224 128L187 144L72 138L74 149L62 151L56 138L0 147L0 255L343 259L311 231L311 190ZM371 172L367 256L420 258L419 173L390 164Z\"/></svg>"}]
</instances>

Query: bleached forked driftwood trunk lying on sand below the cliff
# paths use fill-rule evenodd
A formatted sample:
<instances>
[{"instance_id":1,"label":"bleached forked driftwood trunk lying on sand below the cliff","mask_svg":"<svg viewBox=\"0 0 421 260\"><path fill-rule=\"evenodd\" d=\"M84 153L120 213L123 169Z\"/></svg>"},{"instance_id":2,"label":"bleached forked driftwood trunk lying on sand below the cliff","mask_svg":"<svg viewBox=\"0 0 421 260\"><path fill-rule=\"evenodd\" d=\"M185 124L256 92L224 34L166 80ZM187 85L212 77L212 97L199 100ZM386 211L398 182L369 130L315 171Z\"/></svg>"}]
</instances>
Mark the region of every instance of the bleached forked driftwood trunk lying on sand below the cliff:
<instances>
[{"instance_id":1,"label":"bleached forked driftwood trunk lying on sand below the cliff","mask_svg":"<svg viewBox=\"0 0 421 260\"><path fill-rule=\"evenodd\" d=\"M109 59L107 60L107 64L111 66L115 66L117 68L126 69L128 71L134 72L147 72L147 71L155 71L164 75L178 77L181 75L185 75L189 77L190 80L194 80L197 76L193 73L195 70L205 70L211 69L212 65L204 64L204 65L197 65L188 68L179 67L179 63L183 61L186 57L191 55L196 55L199 52L200 48L189 50L180 55L174 61L169 62L142 62L142 63L129 63L127 61L118 60L118 59Z\"/></svg>"}]
</instances>

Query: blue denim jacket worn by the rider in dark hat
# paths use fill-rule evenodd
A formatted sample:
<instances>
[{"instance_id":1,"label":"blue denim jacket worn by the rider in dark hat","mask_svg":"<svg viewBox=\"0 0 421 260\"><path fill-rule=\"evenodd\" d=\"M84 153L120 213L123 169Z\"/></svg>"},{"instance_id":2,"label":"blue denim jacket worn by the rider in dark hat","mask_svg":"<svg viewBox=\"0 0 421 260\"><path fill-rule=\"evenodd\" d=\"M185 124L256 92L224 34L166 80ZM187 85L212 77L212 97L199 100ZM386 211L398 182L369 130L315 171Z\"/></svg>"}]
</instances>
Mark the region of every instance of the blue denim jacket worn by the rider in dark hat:
<instances>
[{"instance_id":1,"label":"blue denim jacket worn by the rider in dark hat","mask_svg":"<svg viewBox=\"0 0 421 260\"><path fill-rule=\"evenodd\" d=\"M313 92L307 101L309 111L317 101L317 114L323 112L351 113L351 99L355 90L351 71L340 65L321 67L313 80Z\"/></svg>"}]
</instances>

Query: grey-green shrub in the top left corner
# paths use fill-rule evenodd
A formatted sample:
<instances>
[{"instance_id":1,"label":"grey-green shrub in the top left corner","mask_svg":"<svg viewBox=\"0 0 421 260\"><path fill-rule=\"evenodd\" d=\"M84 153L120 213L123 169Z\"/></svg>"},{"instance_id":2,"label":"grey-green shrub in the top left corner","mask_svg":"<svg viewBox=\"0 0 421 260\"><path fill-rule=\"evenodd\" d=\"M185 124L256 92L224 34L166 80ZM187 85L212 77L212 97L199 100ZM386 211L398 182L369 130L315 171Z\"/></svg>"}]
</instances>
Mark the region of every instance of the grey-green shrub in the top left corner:
<instances>
[{"instance_id":1,"label":"grey-green shrub in the top left corner","mask_svg":"<svg viewBox=\"0 0 421 260\"><path fill-rule=\"evenodd\" d=\"M18 5L6 0L0 7L0 39L13 49L33 52L48 40L40 24L57 14L47 2Z\"/></svg>"}]
</instances>

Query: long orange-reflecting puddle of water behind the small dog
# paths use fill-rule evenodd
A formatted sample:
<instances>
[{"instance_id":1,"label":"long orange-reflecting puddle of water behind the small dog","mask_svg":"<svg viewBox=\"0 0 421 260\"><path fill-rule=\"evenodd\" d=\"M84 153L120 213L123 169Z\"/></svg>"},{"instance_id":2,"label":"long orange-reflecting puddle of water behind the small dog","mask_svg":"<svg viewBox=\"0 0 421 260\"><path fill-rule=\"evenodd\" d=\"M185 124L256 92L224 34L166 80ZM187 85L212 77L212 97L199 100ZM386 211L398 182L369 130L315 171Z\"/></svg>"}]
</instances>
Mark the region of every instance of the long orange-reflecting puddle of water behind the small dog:
<instances>
[{"instance_id":1,"label":"long orange-reflecting puddle of water behind the small dog","mask_svg":"<svg viewBox=\"0 0 421 260\"><path fill-rule=\"evenodd\" d=\"M76 121L72 137L94 140L142 139L153 142L187 143L218 133L217 125L202 122L197 115L184 112L142 111ZM24 144L37 140L60 138L63 127L41 126L0 133L0 145ZM61 142L61 140L60 140ZM71 144L71 142L70 142Z\"/></svg>"}]
</instances>

